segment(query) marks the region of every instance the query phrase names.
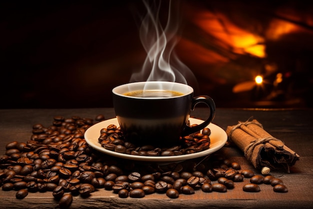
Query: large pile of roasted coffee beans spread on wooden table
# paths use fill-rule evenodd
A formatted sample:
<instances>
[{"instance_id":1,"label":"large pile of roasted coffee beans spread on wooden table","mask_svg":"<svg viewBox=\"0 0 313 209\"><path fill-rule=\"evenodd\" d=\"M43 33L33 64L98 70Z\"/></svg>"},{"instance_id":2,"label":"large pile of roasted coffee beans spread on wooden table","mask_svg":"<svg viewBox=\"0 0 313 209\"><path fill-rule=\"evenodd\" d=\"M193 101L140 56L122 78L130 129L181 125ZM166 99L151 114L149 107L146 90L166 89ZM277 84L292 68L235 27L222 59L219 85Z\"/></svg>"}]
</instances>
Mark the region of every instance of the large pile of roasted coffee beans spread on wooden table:
<instances>
[{"instance_id":1,"label":"large pile of roasted coffee beans spread on wooden table","mask_svg":"<svg viewBox=\"0 0 313 209\"><path fill-rule=\"evenodd\" d=\"M85 130L102 120L103 115L95 120L56 116L48 127L34 124L28 141L8 143L0 157L2 190L15 190L17 199L25 198L28 192L51 192L60 208L69 207L73 196L86 198L98 189L111 190L120 198L142 198L151 193L178 198L195 190L226 192L244 178L250 181L242 188L246 192L259 191L261 183L270 184L275 192L287 192L280 179L241 169L216 153L208 160L166 165L104 155L84 140ZM114 129L116 133L118 129Z\"/></svg>"}]
</instances>

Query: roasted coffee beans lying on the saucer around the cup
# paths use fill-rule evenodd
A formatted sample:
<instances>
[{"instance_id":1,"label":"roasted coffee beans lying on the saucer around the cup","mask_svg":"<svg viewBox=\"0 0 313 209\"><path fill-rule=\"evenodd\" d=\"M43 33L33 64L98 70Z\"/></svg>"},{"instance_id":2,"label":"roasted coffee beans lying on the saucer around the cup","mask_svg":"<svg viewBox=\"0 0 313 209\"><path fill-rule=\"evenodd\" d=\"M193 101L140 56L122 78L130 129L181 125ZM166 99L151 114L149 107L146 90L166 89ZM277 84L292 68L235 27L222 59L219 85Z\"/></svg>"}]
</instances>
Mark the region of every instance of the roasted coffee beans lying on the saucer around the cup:
<instances>
[{"instance_id":1,"label":"roasted coffee beans lying on the saucer around the cup","mask_svg":"<svg viewBox=\"0 0 313 209\"><path fill-rule=\"evenodd\" d=\"M111 124L100 130L98 142L107 150L124 154L140 156L174 156L182 154L192 154L201 152L209 148L210 135L209 128L203 128L201 132L183 136L180 138L180 144L172 147L154 147L146 144L136 146L124 139L120 127Z\"/></svg>"}]
</instances>

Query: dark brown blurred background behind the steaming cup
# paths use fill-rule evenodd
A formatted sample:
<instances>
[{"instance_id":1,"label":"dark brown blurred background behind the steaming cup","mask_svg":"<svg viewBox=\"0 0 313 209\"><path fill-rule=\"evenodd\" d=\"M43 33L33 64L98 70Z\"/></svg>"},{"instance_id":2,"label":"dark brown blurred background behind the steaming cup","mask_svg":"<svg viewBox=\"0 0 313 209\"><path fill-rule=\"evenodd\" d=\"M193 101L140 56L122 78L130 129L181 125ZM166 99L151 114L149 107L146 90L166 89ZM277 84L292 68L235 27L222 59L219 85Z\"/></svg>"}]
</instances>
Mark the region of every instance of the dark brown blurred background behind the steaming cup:
<instances>
[{"instance_id":1,"label":"dark brown blurred background behind the steaming cup","mask_svg":"<svg viewBox=\"0 0 313 209\"><path fill-rule=\"evenodd\" d=\"M168 1L160 19L166 19ZM181 42L177 55L196 77L195 94L211 96L217 107L312 107L313 10L296 1L181 1ZM238 28L265 37L266 58L220 48L194 17L223 14ZM277 11L280 11L279 13ZM282 12L281 12L282 11ZM141 1L0 3L0 108L111 107L111 89L141 68L145 52L138 35ZM266 40L273 20L299 30ZM224 33L227 33L225 25ZM203 53L204 52L204 53ZM227 62L218 62L214 52ZM291 75L278 89L268 85L233 93L234 85L264 72L266 63Z\"/></svg>"}]
</instances>

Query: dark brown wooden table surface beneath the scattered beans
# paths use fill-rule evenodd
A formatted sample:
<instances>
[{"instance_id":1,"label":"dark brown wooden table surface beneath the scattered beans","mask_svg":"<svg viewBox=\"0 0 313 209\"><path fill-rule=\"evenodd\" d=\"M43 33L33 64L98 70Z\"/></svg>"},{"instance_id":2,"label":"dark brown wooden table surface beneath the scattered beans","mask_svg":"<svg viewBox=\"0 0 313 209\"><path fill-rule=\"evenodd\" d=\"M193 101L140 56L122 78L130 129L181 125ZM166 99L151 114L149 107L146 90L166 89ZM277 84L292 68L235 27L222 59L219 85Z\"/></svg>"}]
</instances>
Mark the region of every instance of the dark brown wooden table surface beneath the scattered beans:
<instances>
[{"instance_id":1,"label":"dark brown wooden table surface beneath the scattered beans","mask_svg":"<svg viewBox=\"0 0 313 209\"><path fill-rule=\"evenodd\" d=\"M192 112L193 117L203 119L205 108ZM79 116L95 118L103 114L106 119L114 117L112 108L94 109L2 109L0 110L0 155L5 153L5 145L11 141L26 142L30 139L32 125L41 123L50 126L54 116ZM274 192L271 185L260 184L259 192L244 192L242 186L248 178L235 182L227 192L180 194L170 199L165 194L153 193L143 198L119 198L111 190L97 189L87 198L73 196L70 208L312 208L313 205L313 110L312 109L218 109L213 123L226 129L238 121L253 116L272 136L300 155L290 173L271 171L287 186L288 192ZM246 161L236 147L222 147L217 151L225 158L238 162L241 169L251 169L260 174ZM200 161L200 159L195 159ZM15 190L0 189L0 208L57 208L58 201L52 192L35 192L23 199L15 198Z\"/></svg>"}]
</instances>

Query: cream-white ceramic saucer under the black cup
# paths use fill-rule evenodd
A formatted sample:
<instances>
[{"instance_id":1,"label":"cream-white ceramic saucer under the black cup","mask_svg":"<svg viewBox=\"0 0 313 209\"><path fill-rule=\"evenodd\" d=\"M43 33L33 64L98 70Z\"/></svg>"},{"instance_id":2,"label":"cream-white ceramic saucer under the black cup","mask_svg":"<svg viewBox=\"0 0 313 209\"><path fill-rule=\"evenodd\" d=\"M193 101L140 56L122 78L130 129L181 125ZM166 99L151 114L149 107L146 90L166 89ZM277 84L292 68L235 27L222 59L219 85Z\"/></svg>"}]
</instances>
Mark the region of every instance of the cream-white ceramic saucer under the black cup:
<instances>
[{"instance_id":1,"label":"cream-white ceramic saucer under the black cup","mask_svg":"<svg viewBox=\"0 0 313 209\"><path fill-rule=\"evenodd\" d=\"M189 118L190 124L200 124L203 122L203 120L195 119L195 118ZM104 149L100 143L98 142L98 138L100 136L100 130L102 128L106 128L108 125L114 124L117 127L119 126L117 119L112 118L108 120L101 121L99 123L96 123L89 127L84 134L84 138L86 142L94 149L103 152L105 154L124 158L124 159L130 159L130 160L138 160L138 161L149 161L149 162L176 162L176 161L183 161L187 159L202 157L208 154L211 154L218 149L220 149L227 141L227 134L225 131L218 127L215 124L210 123L208 127L211 130L210 134L210 147L206 150L203 150L201 152L196 152L192 154L184 154L184 155L176 155L176 156L138 156L138 155L130 155L130 154L123 154L118 153L114 151L110 151L107 149Z\"/></svg>"}]
</instances>

